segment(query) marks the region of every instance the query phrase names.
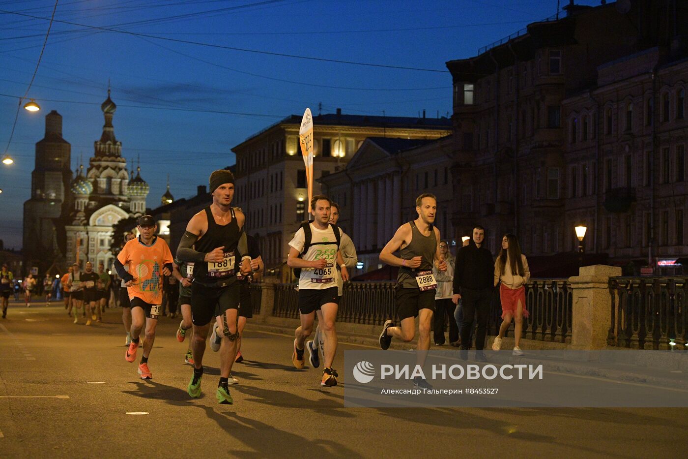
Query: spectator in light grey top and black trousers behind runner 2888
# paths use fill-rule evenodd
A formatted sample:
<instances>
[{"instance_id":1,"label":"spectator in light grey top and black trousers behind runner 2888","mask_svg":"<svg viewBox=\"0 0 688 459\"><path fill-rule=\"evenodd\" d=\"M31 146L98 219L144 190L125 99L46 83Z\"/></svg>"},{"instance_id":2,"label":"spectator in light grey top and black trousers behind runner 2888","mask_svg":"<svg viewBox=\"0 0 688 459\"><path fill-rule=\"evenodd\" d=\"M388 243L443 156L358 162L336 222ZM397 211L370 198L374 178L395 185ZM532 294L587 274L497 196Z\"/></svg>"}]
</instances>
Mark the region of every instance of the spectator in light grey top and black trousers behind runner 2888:
<instances>
[{"instance_id":1,"label":"spectator in light grey top and black trousers behind runner 2888","mask_svg":"<svg viewBox=\"0 0 688 459\"><path fill-rule=\"evenodd\" d=\"M449 322L449 344L456 346L459 341L459 328L453 320L456 306L451 302L455 258L449 252L449 243L447 241L440 241L440 254L442 254L444 261L447 262L447 271L442 272L437 267L433 267L433 274L437 281L433 339L436 345L444 345L444 328L447 327L447 322Z\"/></svg>"}]
</instances>

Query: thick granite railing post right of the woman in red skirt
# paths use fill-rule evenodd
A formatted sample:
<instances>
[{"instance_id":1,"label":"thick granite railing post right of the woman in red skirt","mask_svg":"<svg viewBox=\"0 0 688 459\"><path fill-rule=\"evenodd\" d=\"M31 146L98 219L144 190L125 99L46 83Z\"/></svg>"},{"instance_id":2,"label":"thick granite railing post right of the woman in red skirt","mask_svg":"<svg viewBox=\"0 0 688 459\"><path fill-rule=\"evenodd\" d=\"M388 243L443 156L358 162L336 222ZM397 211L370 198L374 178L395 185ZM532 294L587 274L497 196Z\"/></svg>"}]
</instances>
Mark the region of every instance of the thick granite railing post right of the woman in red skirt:
<instances>
[{"instance_id":1,"label":"thick granite railing post right of the woman in red skirt","mask_svg":"<svg viewBox=\"0 0 688 459\"><path fill-rule=\"evenodd\" d=\"M621 276L621 267L583 266L568 279L573 294L572 349L604 349L612 320L609 278Z\"/></svg>"}]
</instances>

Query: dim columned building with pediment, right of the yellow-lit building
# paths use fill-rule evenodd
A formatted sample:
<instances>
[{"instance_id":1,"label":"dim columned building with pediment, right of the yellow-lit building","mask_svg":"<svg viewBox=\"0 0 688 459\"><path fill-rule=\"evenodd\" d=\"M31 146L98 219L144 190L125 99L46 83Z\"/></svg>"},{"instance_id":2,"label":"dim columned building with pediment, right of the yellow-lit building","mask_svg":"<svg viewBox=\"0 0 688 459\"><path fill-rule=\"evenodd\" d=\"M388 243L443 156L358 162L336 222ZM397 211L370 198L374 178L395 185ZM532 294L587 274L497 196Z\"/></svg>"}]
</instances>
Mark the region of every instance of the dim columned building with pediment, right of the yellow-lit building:
<instances>
[{"instance_id":1,"label":"dim columned building with pediment, right of the yellow-lit building","mask_svg":"<svg viewBox=\"0 0 688 459\"><path fill-rule=\"evenodd\" d=\"M435 225L450 241L453 139L369 137L340 172L323 176L322 189L341 205L338 225L356 245L356 276L383 267L380 250L402 223L418 218L416 198L438 198ZM453 241L455 243L455 241Z\"/></svg>"}]
</instances>

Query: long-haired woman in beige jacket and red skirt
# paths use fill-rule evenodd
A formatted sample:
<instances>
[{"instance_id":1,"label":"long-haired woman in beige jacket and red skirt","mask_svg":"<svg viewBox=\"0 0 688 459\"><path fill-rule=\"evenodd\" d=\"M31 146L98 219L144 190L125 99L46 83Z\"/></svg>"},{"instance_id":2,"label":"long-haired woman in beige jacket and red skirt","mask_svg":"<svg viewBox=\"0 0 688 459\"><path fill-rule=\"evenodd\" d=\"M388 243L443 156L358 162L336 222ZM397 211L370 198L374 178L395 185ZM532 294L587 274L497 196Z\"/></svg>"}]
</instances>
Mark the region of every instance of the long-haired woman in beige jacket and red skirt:
<instances>
[{"instance_id":1,"label":"long-haired woman in beige jacket and red skirt","mask_svg":"<svg viewBox=\"0 0 688 459\"><path fill-rule=\"evenodd\" d=\"M505 234L502 238L502 250L495 261L495 287L499 286L499 299L502 300L502 326L499 327L499 335L495 338L492 349L499 351L502 348L502 338L514 319L514 349L513 355L522 356L519 347L523 318L528 317L526 311L526 282L530 279L530 269L526 256L521 253L521 247L513 234Z\"/></svg>"}]
</instances>

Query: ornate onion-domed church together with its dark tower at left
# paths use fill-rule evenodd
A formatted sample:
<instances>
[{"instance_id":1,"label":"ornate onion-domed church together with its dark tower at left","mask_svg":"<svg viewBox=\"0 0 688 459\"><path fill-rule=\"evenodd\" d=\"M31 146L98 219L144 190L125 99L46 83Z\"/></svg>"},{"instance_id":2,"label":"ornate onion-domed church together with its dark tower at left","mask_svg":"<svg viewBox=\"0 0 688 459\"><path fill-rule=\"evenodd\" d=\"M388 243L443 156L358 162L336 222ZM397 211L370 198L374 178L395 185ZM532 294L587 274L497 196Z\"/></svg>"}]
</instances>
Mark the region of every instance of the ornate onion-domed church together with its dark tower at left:
<instances>
[{"instance_id":1,"label":"ornate onion-domed church together with its dark tower at left","mask_svg":"<svg viewBox=\"0 0 688 459\"><path fill-rule=\"evenodd\" d=\"M23 247L26 266L39 267L41 273L51 264L63 268L91 261L111 266L113 225L146 211L149 185L141 178L140 167L136 176L133 167L127 170L112 125L117 107L109 90L107 94L100 105L103 134L94 143L85 172L80 165L72 178L70 147L62 138L62 117L57 112L46 116L45 139L36 143L32 197L24 203Z\"/></svg>"}]
</instances>

